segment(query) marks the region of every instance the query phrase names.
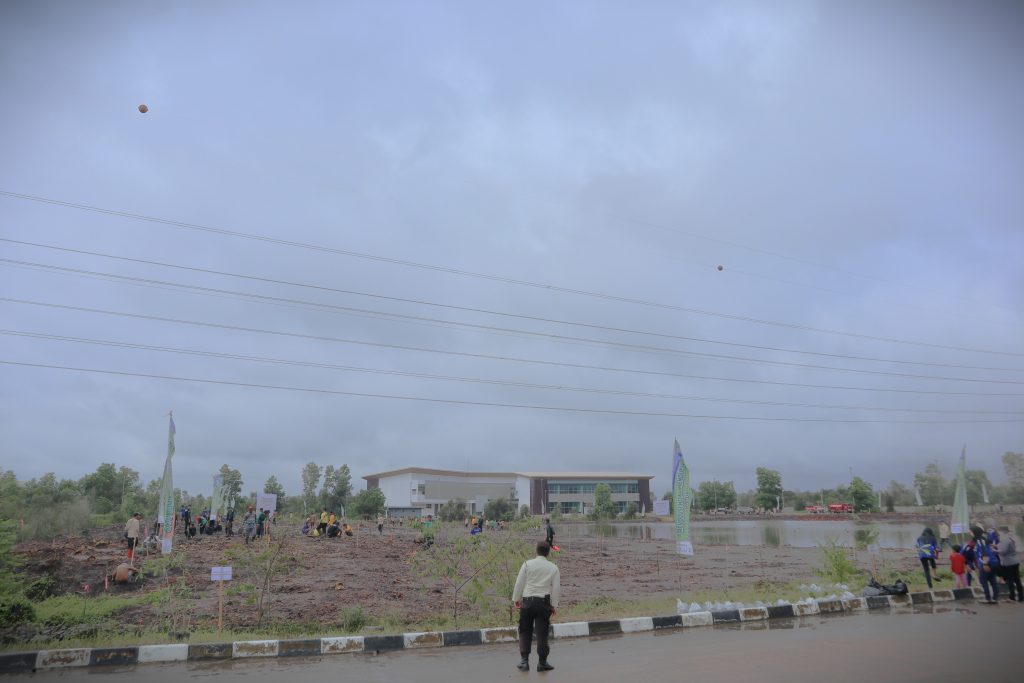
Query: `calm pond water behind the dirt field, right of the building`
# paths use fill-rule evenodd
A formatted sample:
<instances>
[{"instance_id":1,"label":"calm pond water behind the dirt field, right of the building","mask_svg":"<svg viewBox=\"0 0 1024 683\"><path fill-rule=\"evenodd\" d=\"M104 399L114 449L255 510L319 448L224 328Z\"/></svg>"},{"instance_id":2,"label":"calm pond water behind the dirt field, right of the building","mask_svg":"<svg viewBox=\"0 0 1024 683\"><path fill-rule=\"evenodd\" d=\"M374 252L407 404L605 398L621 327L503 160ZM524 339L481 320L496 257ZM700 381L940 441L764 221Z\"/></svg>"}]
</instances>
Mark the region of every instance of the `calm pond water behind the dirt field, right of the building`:
<instances>
[{"instance_id":1,"label":"calm pond water behind the dirt field, right of the building","mask_svg":"<svg viewBox=\"0 0 1024 683\"><path fill-rule=\"evenodd\" d=\"M853 520L798 521L792 519L732 519L722 521L696 521L690 524L690 540L701 546L792 546L814 548L836 539L842 546L853 547L863 543L878 530L876 543L882 548L912 548L925 524L921 522L863 522ZM933 526L936 533L938 527ZM1014 527L1018 542L1024 537L1024 524ZM557 538L598 537L657 539L675 538L671 522L626 523L570 523L555 524ZM555 541L557 543L557 540Z\"/></svg>"}]
</instances>

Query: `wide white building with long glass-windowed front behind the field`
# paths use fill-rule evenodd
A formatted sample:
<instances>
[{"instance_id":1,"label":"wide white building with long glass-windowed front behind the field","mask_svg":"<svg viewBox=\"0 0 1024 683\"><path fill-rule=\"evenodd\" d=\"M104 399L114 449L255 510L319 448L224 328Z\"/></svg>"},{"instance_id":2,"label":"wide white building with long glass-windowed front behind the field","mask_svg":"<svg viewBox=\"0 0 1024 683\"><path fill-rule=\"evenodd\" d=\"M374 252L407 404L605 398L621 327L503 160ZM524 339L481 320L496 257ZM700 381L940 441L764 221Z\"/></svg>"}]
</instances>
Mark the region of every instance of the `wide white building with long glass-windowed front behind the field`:
<instances>
[{"instance_id":1,"label":"wide white building with long glass-windowed front behind the field","mask_svg":"<svg viewBox=\"0 0 1024 683\"><path fill-rule=\"evenodd\" d=\"M380 488L392 514L435 514L449 501L462 500L470 514L488 501L504 498L516 509L528 505L531 514L587 513L599 483L611 487L618 512L630 503L651 509L652 475L630 472L460 472L407 467L362 477L367 488Z\"/></svg>"}]
</instances>

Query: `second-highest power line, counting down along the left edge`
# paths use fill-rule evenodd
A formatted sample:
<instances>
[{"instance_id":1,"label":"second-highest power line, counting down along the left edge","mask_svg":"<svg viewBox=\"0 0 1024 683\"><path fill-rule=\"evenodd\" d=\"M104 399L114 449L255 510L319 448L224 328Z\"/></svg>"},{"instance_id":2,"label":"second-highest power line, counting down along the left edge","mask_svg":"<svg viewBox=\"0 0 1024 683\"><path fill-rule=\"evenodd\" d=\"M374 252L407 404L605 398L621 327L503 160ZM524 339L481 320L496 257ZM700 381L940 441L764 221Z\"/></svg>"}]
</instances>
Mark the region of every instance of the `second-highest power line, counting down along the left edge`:
<instances>
[{"instance_id":1,"label":"second-highest power line, counting down along the left edge","mask_svg":"<svg viewBox=\"0 0 1024 683\"><path fill-rule=\"evenodd\" d=\"M447 309L451 309L451 310L460 310L460 311L473 312L473 313L484 313L484 314L487 314L487 315L499 315L499 316L503 316L503 317L511 317L511 318L517 318L517 319L532 321L532 322L538 322L538 323L549 323L549 324L554 324L554 325L564 325L564 326L572 326L572 327L582 327L582 328L588 328L588 329L592 329L592 330L602 330L602 331L605 331L605 332L628 333L628 334L643 335L643 336L648 336L648 337L658 337L658 338L663 338L663 339L675 339L675 340L679 340L679 341L692 341L692 342L698 342L698 343L705 343L705 344L720 344L720 345L725 345L725 346L735 346L737 348L751 348L751 349L756 349L756 350L761 350L761 351L777 351L777 352L781 352L781 353L798 353L798 354L803 354L803 355L815 355L815 356L821 356L821 357L841 358L841 359L847 359L847 360L866 360L866 361L870 361L870 362L891 362L891 364L897 364L897 365L922 366L922 367L929 367L929 368L948 368L948 369L955 369L955 370L983 370L983 371L1011 372L1011 373L1024 372L1024 368L992 368L992 367L986 367L986 366L963 366L963 365L946 364L946 362L929 362L929 361L925 361L925 360L901 360L901 359L896 359L896 358L878 358L878 357L872 357L872 356L849 355L849 354L844 354L844 353L825 353L825 352L822 352L822 351L807 351L807 350L802 350L802 349L780 348L780 347L777 347L777 346L764 346L764 345L758 345L758 344L742 344L742 343L739 343L739 342L730 342L730 341L723 341L723 340L717 340L717 339L706 339L706 338L701 338L701 337L688 337L688 336L683 336L683 335L673 335L673 334L659 333L659 332L650 332L650 331L644 331L644 330L633 330L633 329L629 329L629 328L616 328L616 327L604 326L604 325L596 325L596 324L591 324L591 323L580 323L580 322L573 322L573 321L562 321L562 319L557 319L557 318L541 317L541 316L537 316L537 315L525 315L525 314L520 314L520 313L509 313L509 312L505 312L505 311L497 311L497 310L490 310L490 309L486 309L486 308L474 308L474 307L470 307L470 306L459 306L459 305L454 305L454 304L438 303L438 302L435 302L435 301L428 301L428 300L424 300L424 299L409 299L409 298L404 298L404 297L396 297L396 296L389 296L389 295L384 295L384 294L375 294L375 293L369 293L369 292L359 292L359 291L355 291L355 290L346 290L346 289L339 289L339 288L334 288L334 287L327 287L327 286L324 286L324 285L310 285L310 284L306 284L306 283L296 283L296 282L292 282L292 281L276 280L276 279L264 278L264 276L260 276L260 275L252 275L252 274L246 274L246 273L228 272L228 271L224 271L224 270L213 270L213 269L209 269L209 268L201 268L201 267L198 267L198 266L181 265L181 264L176 264L176 263L167 263L167 262L164 262L164 261L154 261L154 260L150 260L150 259L133 258L133 257L129 257L129 256L117 256L117 255L114 255L114 254L104 254L104 253L101 253L101 252L87 251L87 250L83 250L83 249L73 249L73 248L70 248L70 247L57 247L57 246L54 246L54 245L45 245L45 244L40 244L40 243L35 243L35 242L25 242L23 240L12 240L12 239L8 239L8 238L0 238L0 242L7 242L7 243L10 243L10 244L16 244L16 245L23 245L23 246L29 246L29 247L37 247L37 248L40 248L40 249L50 249L50 250L54 250L54 251L68 252L68 253L73 253L73 254L82 254L82 255L86 255L86 256L96 256L96 257L100 257L100 258L106 258L106 259L113 259L113 260L119 260L119 261L127 261L127 262L131 262L131 263L142 263L142 264L146 264L146 265L156 265L156 266L165 267L165 268L175 268L175 269L186 270L186 271L191 271L191 272L202 272L202 273L205 273L205 274L221 275L221 276L225 276L225 278L236 278L236 279L240 279L240 280L249 280L249 281L253 281L253 282L268 283L268 284L273 284L273 285L287 285L287 286L290 286L290 287L299 287L299 288L316 290L316 291L322 291L322 292L331 292L331 293L335 293L335 294L346 294L346 295L368 297L368 298L374 298L374 299L381 299L381 300L386 300L386 301L397 301L397 302L401 302L401 303L411 303L411 304L423 305L423 306L434 306L434 307L438 307L438 308L447 308ZM57 267L57 266L44 266L44 267ZM123 278L123 275L113 275L113 276ZM322 305L322 304L316 304L316 305ZM396 313L386 313L386 314L387 315L397 315ZM427 318L427 319L430 319L430 318ZM458 325L466 325L466 324L458 324ZM532 334L537 334L537 333L532 333Z\"/></svg>"}]
</instances>

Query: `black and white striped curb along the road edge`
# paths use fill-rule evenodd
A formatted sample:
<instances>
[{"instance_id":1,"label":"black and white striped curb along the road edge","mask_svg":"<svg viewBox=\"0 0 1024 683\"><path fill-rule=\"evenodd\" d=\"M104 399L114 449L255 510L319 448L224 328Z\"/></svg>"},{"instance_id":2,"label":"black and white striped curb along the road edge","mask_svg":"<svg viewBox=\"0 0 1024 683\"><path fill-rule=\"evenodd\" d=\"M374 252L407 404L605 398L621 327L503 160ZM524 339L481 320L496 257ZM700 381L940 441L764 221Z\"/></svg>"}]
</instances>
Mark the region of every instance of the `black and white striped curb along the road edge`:
<instances>
[{"instance_id":1,"label":"black and white striped curb along the road edge","mask_svg":"<svg viewBox=\"0 0 1024 683\"><path fill-rule=\"evenodd\" d=\"M983 598L980 587L925 591L907 595L880 595L867 598L806 600L768 607L745 607L723 611L689 612L668 616L634 616L605 622L569 622L552 624L553 638L607 636L664 629L686 629L736 622L810 616L831 612L854 612L920 604L973 600ZM342 654L347 652L382 652L413 650L425 647L455 647L488 643L514 643L515 627L472 629L468 631L428 631L394 636L339 636L304 640L242 640L233 643L202 645L138 645L131 647L73 648L38 652L0 653L0 673L30 673L70 667L134 666L161 661L203 661L213 659L244 659L250 657L294 657Z\"/></svg>"}]
</instances>

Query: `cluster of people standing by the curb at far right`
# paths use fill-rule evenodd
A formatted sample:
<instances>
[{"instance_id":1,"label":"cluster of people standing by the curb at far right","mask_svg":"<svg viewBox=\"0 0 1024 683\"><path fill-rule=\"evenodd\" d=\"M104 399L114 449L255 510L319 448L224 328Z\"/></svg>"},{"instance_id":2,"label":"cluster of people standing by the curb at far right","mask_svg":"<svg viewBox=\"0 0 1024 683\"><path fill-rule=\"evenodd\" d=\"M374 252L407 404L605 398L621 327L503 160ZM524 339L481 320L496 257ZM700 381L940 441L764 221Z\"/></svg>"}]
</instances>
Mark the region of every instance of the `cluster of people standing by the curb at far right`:
<instances>
[{"instance_id":1,"label":"cluster of people standing by the curb at far right","mask_svg":"<svg viewBox=\"0 0 1024 683\"><path fill-rule=\"evenodd\" d=\"M985 603L996 604L999 600L1001 579L1010 591L1010 600L1024 602L1024 587L1021 586L1020 556L1017 553L1017 539L1004 524L997 529L987 529L980 524L972 524L970 537L963 545L949 543L949 527L939 525L939 538L926 527L918 538L918 558L925 570L925 581L932 588L932 571L936 568L943 548L949 545L949 568L953 573L955 588L968 588L977 574L978 583L985 592ZM936 581L938 578L936 578Z\"/></svg>"}]
</instances>

